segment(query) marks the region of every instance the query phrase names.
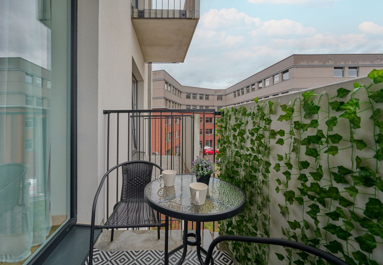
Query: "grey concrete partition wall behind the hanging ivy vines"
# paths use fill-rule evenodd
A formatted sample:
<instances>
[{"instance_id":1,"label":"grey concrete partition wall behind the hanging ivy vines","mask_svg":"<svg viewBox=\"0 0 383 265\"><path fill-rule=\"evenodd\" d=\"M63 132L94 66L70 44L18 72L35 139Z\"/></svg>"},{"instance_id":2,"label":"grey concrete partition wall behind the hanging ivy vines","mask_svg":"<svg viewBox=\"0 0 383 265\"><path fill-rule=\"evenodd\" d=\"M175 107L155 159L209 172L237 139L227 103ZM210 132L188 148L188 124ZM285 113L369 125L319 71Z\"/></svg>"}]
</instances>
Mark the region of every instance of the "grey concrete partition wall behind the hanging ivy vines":
<instances>
[{"instance_id":1,"label":"grey concrete partition wall behind the hanging ivy vines","mask_svg":"<svg viewBox=\"0 0 383 265\"><path fill-rule=\"evenodd\" d=\"M329 98L332 98L336 95L336 93L337 93L336 90L340 87L343 87L343 88L348 89L348 90L353 90L354 89L353 84L355 81L358 81L359 83L365 84L365 85L369 85L371 83L371 80L368 79L367 77L358 77L358 78L351 79L351 80L345 80L342 82L337 82L337 83L333 83L330 85L317 87L317 88L315 88L314 93L317 95L322 95L324 93L327 93L329 95ZM382 88L383 88L383 83L380 83L378 85L375 85L373 90L377 91L377 90L380 90ZM308 89L308 91L309 90L311 90L311 89ZM275 131L278 131L279 129L283 129L288 134L288 132L290 131L290 121L289 122L279 122L276 120L279 117L279 115L285 114L285 112L283 112L281 110L280 106L283 104L286 104L288 107L292 106L291 102L293 102L296 98L300 97L301 93L302 92L291 93L291 94L276 97L272 100L274 102L273 111L275 114L272 115L273 122L270 125L270 129L275 129ZM360 103L368 101L367 93L363 89L359 90L357 92L357 94L355 95L355 97L360 98ZM316 98L318 98L318 97L316 97ZM347 98L349 98L349 97L347 97ZM346 98L343 98L343 99L338 98L337 100L345 100L345 99ZM321 106L326 106L326 108L327 108L327 97L323 97L320 102L321 102L320 103ZM379 104L375 103L375 105L379 105ZM255 103L248 103L248 104L241 105L241 107L242 106L244 106L247 109L250 109L250 108L255 107ZM361 110L363 110L366 107L361 104L360 108L361 108ZM296 110L297 109L298 108L296 108ZM331 112L330 116L335 116L335 115L339 116L340 115L339 112L336 113L335 111L332 111L331 109L329 111ZM355 132L355 134L354 134L355 139L363 139L367 143L368 147L375 147L375 142L373 140L373 131L372 131L373 121L372 121L372 119L369 118L371 113L372 113L372 111L364 111L363 113L362 112L359 113L358 116L360 116L362 118L361 128L355 129L355 130L353 129L353 131ZM296 118L293 118L293 121L300 119L300 117L298 115L296 115L295 113L294 113L294 116L296 116ZM326 117L327 117L327 113L324 113L324 112L319 113L318 120L320 121ZM317 118L316 115L314 118ZM309 121L309 119L303 119L302 118L301 122L302 123L308 123L308 121ZM249 128L251 128L251 126L252 126L252 123L250 122ZM325 134L327 132L327 126L324 125L323 121L321 121L319 123L318 129L322 129ZM338 123L337 123L336 127L334 128L334 132L330 132L330 134L335 134L337 132L339 134L341 134L345 140L349 139L349 137L350 137L350 124L349 124L349 121L347 119L339 118ZM304 138L307 135L313 135L315 133L316 133L316 129L309 128L307 132L304 132L304 135L302 137ZM267 135L266 135L266 137L267 137ZM298 137L298 135L296 137ZM275 188L277 187L276 179L279 178L282 182L285 182L286 177L282 174L282 172L285 171L285 167L283 167L284 166L283 161L278 162L277 154L282 154L284 156L285 153L290 153L290 151L289 151L290 145L287 144L287 142L290 142L291 140L290 139L288 141L285 140L285 144L283 146L281 146L281 145L275 144L275 142L277 141L278 138L281 138L281 137L277 136L276 139L271 139L271 142L270 142L270 157L268 160L271 163L271 166L270 166L270 172L271 173L268 174L268 183L270 183L270 185L269 186L265 185L264 193L268 193L269 198L270 198L270 203L269 203L269 205L270 205L270 207L269 207L269 209L270 209L270 228L269 228L270 237L285 238L282 235L281 227L283 227L285 229L286 229L286 227L288 227L288 224L286 222L287 216L286 215L282 216L282 214L280 214L280 208L278 207L278 204L285 206L286 202L285 202L285 197L283 196L283 191L279 191L279 193L277 193ZM282 137L282 138L285 139L286 136ZM299 140L298 140L298 142L299 142ZM250 140L246 141L245 146L246 147L251 146ZM362 166L369 166L370 168L373 168L375 170L376 160L375 159L368 159L369 157L372 157L375 154L374 150L371 150L368 148L365 148L363 150L356 150L354 147L354 150L353 150L354 157L353 157L353 159L351 159L351 157L350 157L350 150L351 149L346 149L347 147L350 146L350 143L348 141L341 141L339 143L339 145L336 145L336 146L339 146L339 154L337 154L336 156L330 155L329 160L327 160L327 155L323 154L323 151L321 152L322 154L321 154L321 157L319 159L319 164L323 166L324 177L319 182L319 185L321 185L322 187L327 187L329 184L328 179L331 179L331 177L329 176L328 167L332 168L332 167L337 167L339 165L343 165L347 168L352 168L354 171L358 171L357 169L355 169L355 162L354 162L354 165L351 162L352 160L355 160L356 155L358 155L362 160L365 159L362 162ZM301 147L303 147L303 146L301 146ZM342 150L342 149L344 149L344 150ZM232 151L232 149L230 149L230 150ZM299 154L297 154L297 151L291 153L291 160L289 162L291 162L291 164L293 164L293 167L298 168L297 157L300 157L301 160L308 160L310 163L315 165L314 159L312 157L308 157L308 156L304 155L304 152L305 152L304 148L300 148L299 150L300 150ZM241 151L243 151L243 150L241 150ZM229 157L231 157L231 155L229 155ZM273 169L273 167L276 163L280 163L280 165L281 165L281 170L279 172L276 172ZM329 163L329 164L327 165L327 163ZM381 172L382 169L383 169L383 164L380 163L378 165L378 172ZM244 176L244 174L246 174L246 173L244 173L244 171L241 168L239 168L239 170L240 170L241 176ZM301 186L301 182L299 180L297 180L297 176L296 176L297 174L295 174L295 173L297 173L297 171L298 171L297 169L296 170L295 169L290 170L292 175L291 175L291 180L288 182L288 189L289 190L291 190L291 189L295 190L296 195L300 194L299 191L296 189L296 187ZM306 173L306 175L309 176L309 173L308 173L309 171L312 171L312 170L309 170L309 169L307 171L302 170L301 172ZM223 170L221 172L223 172ZM347 176L346 178L349 180L350 183L352 183L352 180L349 176ZM325 179L327 179L327 180L325 180ZM312 182L312 181L309 178L309 182L307 182L306 185L310 186L310 182ZM344 196L347 200L353 201L353 198L351 198L349 196L349 194L344 192L344 188L349 186L349 185L337 184L335 182L332 182L332 185L339 188L339 191L342 192L342 196ZM279 186L279 187L281 189L284 188L283 185ZM368 190L368 188L366 188L365 186L358 187L358 190L360 192L365 192L365 193L368 193L368 191L371 191L371 189ZM367 202L367 198L368 198L368 195L361 195L361 194L357 195L357 197L355 198L356 199L355 200L355 206L364 208L365 207L364 205ZM376 198L383 200L383 193L377 192ZM306 199L306 197L305 197L305 199ZM326 201L327 200L328 199L326 199ZM304 209L303 209L303 206L299 205L296 201L294 202L293 205L288 204L288 208L290 211L290 216L289 216L290 221L295 220L295 219L297 221L302 221L304 219L304 220L309 222L311 227L315 227L314 226L314 220L312 218L310 218L307 214L303 214L303 212L306 213L308 211L307 206L311 203L312 203L312 201L309 201L307 204L305 203ZM327 201L327 205L329 205L328 201ZM345 209L344 207L341 207L341 208L343 208L345 210L345 212L348 216L347 209ZM321 207L321 209L322 209L322 207ZM328 207L326 209L328 209ZM334 210L334 206L331 208L331 211L333 211L333 210ZM268 212L268 210L266 207L263 213L268 214L267 212ZM359 216L364 216L362 213L363 210L361 210L361 209L355 208L355 212L358 213ZM324 234L325 231L322 228L324 226L326 226L328 218L323 217L322 213L323 213L323 211L321 211L321 213L318 214L318 219L320 221L319 228L321 229L322 234ZM331 223L334 223L334 221L331 221ZM337 221L336 224L341 226L342 225L341 220ZM298 231L299 230L296 231L297 234L298 234ZM356 250L358 250L358 246L357 246L358 244L355 244L355 242L352 242L351 239L353 239L353 237L356 237L356 236L361 236L362 234L364 234L364 232L353 230L352 231L353 236L349 237L349 241L348 241L349 244L353 245L356 248ZM310 231L310 230L306 231L306 235L308 237L314 237L313 231ZM330 237L328 237L328 241L334 240L334 239L338 240L336 238L336 236L333 236L332 239L330 239ZM339 240L339 241L342 243L345 242L343 240ZM378 237L376 237L376 241L379 241ZM321 249L326 250L323 246L321 247ZM349 249L352 249L352 248L349 247ZM374 260L377 260L377 261L382 260L383 259L383 256L382 256L383 252L381 250L382 250L382 245L378 244L378 247L373 250L373 254L371 254L371 258L373 258ZM353 251L355 251L355 250L350 250L349 253L351 254L351 252L353 252ZM283 250L282 247L278 247L278 246L270 247L269 264L280 264L281 263L277 259L276 255L274 254L275 252L285 254L285 250ZM342 256L342 255L339 255L339 256Z\"/></svg>"}]
</instances>

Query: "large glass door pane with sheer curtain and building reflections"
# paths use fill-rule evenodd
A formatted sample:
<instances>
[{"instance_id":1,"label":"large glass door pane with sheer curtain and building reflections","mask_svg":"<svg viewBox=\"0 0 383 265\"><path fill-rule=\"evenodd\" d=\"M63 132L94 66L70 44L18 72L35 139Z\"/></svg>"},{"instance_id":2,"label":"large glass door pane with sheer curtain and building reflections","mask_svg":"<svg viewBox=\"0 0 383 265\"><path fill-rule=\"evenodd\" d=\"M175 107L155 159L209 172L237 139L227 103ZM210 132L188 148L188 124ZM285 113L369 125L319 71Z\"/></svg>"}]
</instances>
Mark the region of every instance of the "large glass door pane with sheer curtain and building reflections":
<instances>
[{"instance_id":1,"label":"large glass door pane with sheer curtain and building reflections","mask_svg":"<svg viewBox=\"0 0 383 265\"><path fill-rule=\"evenodd\" d=\"M0 1L0 263L71 218L70 16L70 0Z\"/></svg>"}]
</instances>

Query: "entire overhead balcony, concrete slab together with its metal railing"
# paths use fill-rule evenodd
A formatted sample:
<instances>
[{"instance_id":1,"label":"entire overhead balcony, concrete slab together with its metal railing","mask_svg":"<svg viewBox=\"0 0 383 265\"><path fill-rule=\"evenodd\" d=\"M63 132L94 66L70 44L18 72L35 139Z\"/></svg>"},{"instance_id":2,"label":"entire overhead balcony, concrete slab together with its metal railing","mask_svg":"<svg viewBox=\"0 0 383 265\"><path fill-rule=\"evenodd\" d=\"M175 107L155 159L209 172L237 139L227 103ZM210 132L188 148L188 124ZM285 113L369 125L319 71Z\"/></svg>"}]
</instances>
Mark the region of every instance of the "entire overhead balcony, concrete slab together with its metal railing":
<instances>
[{"instance_id":1,"label":"entire overhead balcony, concrete slab together with its metal railing","mask_svg":"<svg viewBox=\"0 0 383 265\"><path fill-rule=\"evenodd\" d=\"M183 62L200 0L133 0L132 22L145 62Z\"/></svg>"}]
</instances>

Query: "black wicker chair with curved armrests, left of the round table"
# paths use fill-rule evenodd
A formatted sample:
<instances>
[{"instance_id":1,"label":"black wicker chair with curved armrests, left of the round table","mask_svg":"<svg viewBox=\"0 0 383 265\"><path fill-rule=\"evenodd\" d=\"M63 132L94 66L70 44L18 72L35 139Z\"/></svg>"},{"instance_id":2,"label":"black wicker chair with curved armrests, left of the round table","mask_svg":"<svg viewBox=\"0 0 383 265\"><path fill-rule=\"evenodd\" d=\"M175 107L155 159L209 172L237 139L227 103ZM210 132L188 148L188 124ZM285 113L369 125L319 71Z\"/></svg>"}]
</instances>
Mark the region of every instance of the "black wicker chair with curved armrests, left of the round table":
<instances>
[{"instance_id":1,"label":"black wicker chair with curved armrests, left of the round table","mask_svg":"<svg viewBox=\"0 0 383 265\"><path fill-rule=\"evenodd\" d=\"M122 190L121 198L113 207L113 213L106 220L104 225L95 225L96 204L105 178L116 168L122 168ZM160 214L155 214L154 210L144 200L144 189L152 180L153 167L163 169L153 162L136 160L124 162L112 167L105 173L98 186L92 207L92 221L90 226L90 249L89 265L93 263L93 240L95 229L112 229L111 241L113 241L114 229L118 228L138 228L138 227L158 227L157 237L160 239L159 227L165 227L165 223L160 223ZM167 251L167 240L165 240L165 251Z\"/></svg>"}]
</instances>

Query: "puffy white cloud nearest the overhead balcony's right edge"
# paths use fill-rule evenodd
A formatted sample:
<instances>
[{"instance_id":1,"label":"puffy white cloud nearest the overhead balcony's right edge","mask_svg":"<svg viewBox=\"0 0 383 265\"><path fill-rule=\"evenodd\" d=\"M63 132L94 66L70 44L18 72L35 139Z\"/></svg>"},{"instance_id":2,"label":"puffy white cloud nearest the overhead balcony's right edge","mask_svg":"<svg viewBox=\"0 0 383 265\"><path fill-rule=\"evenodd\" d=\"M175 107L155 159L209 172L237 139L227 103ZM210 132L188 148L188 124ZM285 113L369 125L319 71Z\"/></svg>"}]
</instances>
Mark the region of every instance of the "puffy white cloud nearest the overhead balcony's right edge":
<instances>
[{"instance_id":1,"label":"puffy white cloud nearest the overhead balcony's right edge","mask_svg":"<svg viewBox=\"0 0 383 265\"><path fill-rule=\"evenodd\" d=\"M260 25L260 19L239 12L235 8L210 9L201 16L200 24L202 24L204 28L210 29L244 26L254 27Z\"/></svg>"}]
</instances>

